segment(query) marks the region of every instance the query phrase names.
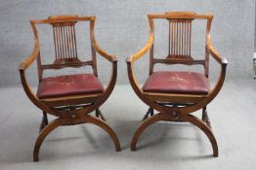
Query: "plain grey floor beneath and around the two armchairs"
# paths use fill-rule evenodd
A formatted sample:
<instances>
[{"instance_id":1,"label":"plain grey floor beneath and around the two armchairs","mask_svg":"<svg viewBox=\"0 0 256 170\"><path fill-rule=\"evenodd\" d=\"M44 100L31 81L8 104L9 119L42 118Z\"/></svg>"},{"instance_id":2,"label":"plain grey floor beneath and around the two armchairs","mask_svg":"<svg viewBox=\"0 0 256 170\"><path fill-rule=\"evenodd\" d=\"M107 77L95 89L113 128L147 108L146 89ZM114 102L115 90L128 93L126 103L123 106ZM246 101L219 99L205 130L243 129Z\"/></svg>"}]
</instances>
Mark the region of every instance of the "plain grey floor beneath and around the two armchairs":
<instances>
[{"instance_id":1,"label":"plain grey floor beneath and around the two armchairs","mask_svg":"<svg viewBox=\"0 0 256 170\"><path fill-rule=\"evenodd\" d=\"M1 88L0 169L252 170L256 168L255 84L253 79L228 80L208 106L219 145L217 158L200 130L176 122L151 125L139 139L138 151L130 152L129 142L148 107L129 85L116 85L102 112L121 141L121 152L115 152L99 127L64 126L46 138L37 163L32 161L32 152L41 112L21 87Z\"/></svg>"}]
</instances>

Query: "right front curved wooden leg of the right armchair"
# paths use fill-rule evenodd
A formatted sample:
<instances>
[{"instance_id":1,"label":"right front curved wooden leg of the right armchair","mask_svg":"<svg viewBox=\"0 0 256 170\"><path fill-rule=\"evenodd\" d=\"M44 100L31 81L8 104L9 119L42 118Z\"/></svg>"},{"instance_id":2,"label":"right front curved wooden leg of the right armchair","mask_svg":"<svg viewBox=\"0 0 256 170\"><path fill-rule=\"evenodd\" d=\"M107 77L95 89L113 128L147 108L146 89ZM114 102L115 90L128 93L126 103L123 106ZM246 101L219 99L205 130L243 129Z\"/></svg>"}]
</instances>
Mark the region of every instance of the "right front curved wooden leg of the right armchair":
<instances>
[{"instance_id":1,"label":"right front curved wooden leg of the right armchair","mask_svg":"<svg viewBox=\"0 0 256 170\"><path fill-rule=\"evenodd\" d=\"M208 139L211 142L212 145L212 150L213 150L213 155L214 156L218 156L219 152L218 152L218 145L217 145L217 141L212 133L212 130L210 129L210 127L208 127L201 119L197 119L196 117L189 115L186 118L189 122L191 122L192 124L196 125L197 127L199 127L204 134L208 137Z\"/></svg>"}]
</instances>

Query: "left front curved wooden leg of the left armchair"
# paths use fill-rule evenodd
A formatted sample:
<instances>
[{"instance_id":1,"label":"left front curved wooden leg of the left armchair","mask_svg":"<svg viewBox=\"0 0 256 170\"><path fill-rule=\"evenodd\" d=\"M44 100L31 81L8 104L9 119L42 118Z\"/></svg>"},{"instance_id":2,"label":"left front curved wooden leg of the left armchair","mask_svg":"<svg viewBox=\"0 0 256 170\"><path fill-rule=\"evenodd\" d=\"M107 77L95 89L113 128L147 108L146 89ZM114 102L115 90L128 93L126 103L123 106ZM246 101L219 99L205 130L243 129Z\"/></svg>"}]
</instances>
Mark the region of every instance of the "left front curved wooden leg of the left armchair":
<instances>
[{"instance_id":1,"label":"left front curved wooden leg of the left armchair","mask_svg":"<svg viewBox=\"0 0 256 170\"><path fill-rule=\"evenodd\" d=\"M46 136L62 124L64 124L63 119L55 119L42 129L42 131L39 133L39 136L37 137L37 139L35 141L34 152L33 152L33 160L34 161L39 160L39 158L38 158L39 150L40 150L40 147L41 147L44 139L46 138Z\"/></svg>"}]
</instances>

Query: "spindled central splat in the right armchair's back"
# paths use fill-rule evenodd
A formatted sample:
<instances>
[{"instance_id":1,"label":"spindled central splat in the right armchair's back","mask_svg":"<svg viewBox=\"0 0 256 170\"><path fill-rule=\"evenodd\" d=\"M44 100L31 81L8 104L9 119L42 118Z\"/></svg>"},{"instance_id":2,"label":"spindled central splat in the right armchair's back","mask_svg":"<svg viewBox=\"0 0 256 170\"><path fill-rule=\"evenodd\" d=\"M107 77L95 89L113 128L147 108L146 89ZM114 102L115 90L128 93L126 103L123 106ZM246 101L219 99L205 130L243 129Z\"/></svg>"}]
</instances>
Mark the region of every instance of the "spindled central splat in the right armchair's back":
<instances>
[{"instance_id":1,"label":"spindled central splat in the right armchair's back","mask_svg":"<svg viewBox=\"0 0 256 170\"><path fill-rule=\"evenodd\" d=\"M169 20L169 51L167 58L192 60L192 19Z\"/></svg>"}]
</instances>

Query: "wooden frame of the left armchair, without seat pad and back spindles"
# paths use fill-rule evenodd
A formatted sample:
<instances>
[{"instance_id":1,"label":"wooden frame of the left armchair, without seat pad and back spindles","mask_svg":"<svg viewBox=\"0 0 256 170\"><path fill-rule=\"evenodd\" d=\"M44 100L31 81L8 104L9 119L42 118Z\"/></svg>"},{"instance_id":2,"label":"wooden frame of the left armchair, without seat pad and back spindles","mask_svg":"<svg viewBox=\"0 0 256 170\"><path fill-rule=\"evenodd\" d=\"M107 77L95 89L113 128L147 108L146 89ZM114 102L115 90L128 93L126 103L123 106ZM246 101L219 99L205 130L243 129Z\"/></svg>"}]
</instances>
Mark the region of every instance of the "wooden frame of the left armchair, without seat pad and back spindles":
<instances>
[{"instance_id":1,"label":"wooden frame of the left armchair, without seat pad and back spindles","mask_svg":"<svg viewBox=\"0 0 256 170\"><path fill-rule=\"evenodd\" d=\"M39 109L43 111L43 114L44 114L40 133L39 133L39 136L37 137L37 140L34 146L34 152L33 152L34 161L38 161L40 146L44 141L44 139L46 138L46 136L50 132L52 132L55 128L61 125L74 125L79 123L93 123L95 125L98 125L99 127L103 128L111 137L116 151L120 151L120 143L115 132L109 127L109 125L106 122L106 119L104 119L104 117L102 116L99 110L100 106L106 102L108 96L112 92L113 87L115 85L116 75L117 75L117 58L114 55L108 54L106 51L102 50L98 46L95 39L95 35L94 35L95 19L96 17L57 16L57 17L49 17L47 19L31 20L31 26L32 26L34 41L35 41L34 49L32 53L23 62L21 62L19 66L19 70L21 75L21 84L23 86L23 89L26 95L32 101L32 103L34 103ZM42 65L41 58L40 58L40 49L39 49L39 37L38 37L36 25L37 24L52 24L52 25L61 24L62 25L65 23L74 25L74 23L78 21L90 22L90 40L91 40L91 48L92 48L92 60L82 62L80 60L77 60L76 58L71 58L69 60L68 59L65 60L62 58L61 60L60 59L58 60L57 58L54 64ZM58 37L55 35L55 38L58 38ZM76 49L74 51L76 51ZM31 87L27 83L25 70L33 63L35 59L37 60L39 82L42 80L43 70L45 69L61 69L64 67L81 67L86 65L92 66L94 75L97 77L98 73L97 73L97 65L96 65L96 52L98 52L100 55L102 55L104 58L106 58L109 62L112 63L111 77L103 93L39 99L33 93L33 91L31 90ZM86 105L83 105L83 104L86 104ZM66 107L60 108L59 106L66 106ZM96 110L96 117L89 115L91 112L95 110ZM54 119L52 122L48 124L48 119L46 114L53 115L57 117L57 119Z\"/></svg>"}]
</instances>

